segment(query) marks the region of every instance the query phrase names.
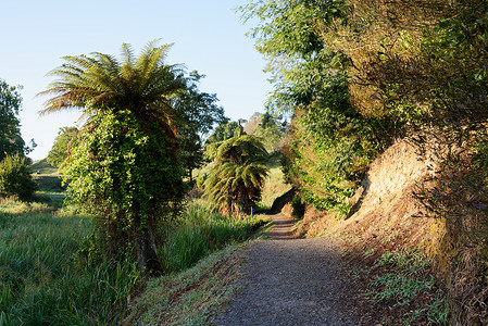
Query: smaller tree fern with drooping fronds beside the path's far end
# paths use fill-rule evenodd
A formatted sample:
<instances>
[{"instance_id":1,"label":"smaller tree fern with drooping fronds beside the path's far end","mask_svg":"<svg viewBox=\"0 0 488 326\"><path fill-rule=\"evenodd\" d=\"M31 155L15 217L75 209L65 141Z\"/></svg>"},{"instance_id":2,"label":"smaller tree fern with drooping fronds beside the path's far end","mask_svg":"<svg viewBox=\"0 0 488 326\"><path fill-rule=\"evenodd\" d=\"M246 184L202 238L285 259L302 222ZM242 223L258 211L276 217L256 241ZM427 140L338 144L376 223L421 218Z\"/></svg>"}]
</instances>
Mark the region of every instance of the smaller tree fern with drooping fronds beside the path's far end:
<instances>
[{"instance_id":1,"label":"smaller tree fern with drooping fronds beside the path's far end","mask_svg":"<svg viewBox=\"0 0 488 326\"><path fill-rule=\"evenodd\" d=\"M204 193L224 214L247 213L261 199L261 190L268 173L264 164L267 152L251 135L241 135L208 147L214 168L204 183Z\"/></svg>"}]
</instances>

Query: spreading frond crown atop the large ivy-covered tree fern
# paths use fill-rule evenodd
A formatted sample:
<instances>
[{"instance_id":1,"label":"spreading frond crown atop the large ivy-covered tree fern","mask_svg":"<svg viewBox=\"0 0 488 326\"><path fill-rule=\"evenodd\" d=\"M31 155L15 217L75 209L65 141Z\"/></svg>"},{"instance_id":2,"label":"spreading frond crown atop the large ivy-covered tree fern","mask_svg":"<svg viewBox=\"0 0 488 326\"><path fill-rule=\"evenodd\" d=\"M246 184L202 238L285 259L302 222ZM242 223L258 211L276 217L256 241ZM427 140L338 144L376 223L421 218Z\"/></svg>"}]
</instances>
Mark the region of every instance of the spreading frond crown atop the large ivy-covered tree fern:
<instances>
[{"instance_id":1,"label":"spreading frond crown atop the large ivy-covered tree fern","mask_svg":"<svg viewBox=\"0 0 488 326\"><path fill-rule=\"evenodd\" d=\"M152 41L136 59L124 43L120 61L99 52L64 57L65 63L49 73L59 79L39 93L51 96L39 113L80 109L82 117L89 118L105 110L130 110L140 121L172 126L170 98L185 89L185 79L180 66L164 64L170 48Z\"/></svg>"}]
</instances>

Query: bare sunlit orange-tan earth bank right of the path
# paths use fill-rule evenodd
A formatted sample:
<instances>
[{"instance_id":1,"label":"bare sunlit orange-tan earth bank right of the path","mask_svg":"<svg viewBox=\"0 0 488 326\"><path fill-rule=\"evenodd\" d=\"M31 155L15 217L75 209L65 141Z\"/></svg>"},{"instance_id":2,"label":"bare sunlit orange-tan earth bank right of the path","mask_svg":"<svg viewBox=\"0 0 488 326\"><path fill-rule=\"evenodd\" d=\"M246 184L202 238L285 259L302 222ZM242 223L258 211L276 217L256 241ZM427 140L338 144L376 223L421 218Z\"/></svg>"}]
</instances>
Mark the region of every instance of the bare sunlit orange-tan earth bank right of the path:
<instances>
[{"instance_id":1,"label":"bare sunlit orange-tan earth bank right of the path","mask_svg":"<svg viewBox=\"0 0 488 326\"><path fill-rule=\"evenodd\" d=\"M338 218L338 213L323 215L310 209L298 231L306 237L349 235L363 249L418 247L426 241L433 221L422 217L413 192L415 185L431 176L431 167L433 162L422 161L413 146L399 141L368 166L348 216Z\"/></svg>"}]
</instances>

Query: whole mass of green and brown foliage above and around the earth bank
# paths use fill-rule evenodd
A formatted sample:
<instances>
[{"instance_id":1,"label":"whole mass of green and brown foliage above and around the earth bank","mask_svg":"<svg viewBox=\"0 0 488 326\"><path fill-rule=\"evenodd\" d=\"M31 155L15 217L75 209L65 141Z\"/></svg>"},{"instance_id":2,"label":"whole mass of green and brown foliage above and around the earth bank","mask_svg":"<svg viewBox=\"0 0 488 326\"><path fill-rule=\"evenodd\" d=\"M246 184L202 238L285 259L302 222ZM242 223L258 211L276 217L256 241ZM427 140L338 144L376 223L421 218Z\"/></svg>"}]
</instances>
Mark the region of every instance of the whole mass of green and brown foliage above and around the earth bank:
<instances>
[{"instance_id":1,"label":"whole mass of green and brown foliage above and around the earth bank","mask_svg":"<svg viewBox=\"0 0 488 326\"><path fill-rule=\"evenodd\" d=\"M438 166L417 198L446 224L439 260L462 261L443 271L452 323L486 324L488 3L250 0L240 12L259 20L270 104L295 114L285 173L303 199L343 201L371 159L410 137Z\"/></svg>"}]
</instances>

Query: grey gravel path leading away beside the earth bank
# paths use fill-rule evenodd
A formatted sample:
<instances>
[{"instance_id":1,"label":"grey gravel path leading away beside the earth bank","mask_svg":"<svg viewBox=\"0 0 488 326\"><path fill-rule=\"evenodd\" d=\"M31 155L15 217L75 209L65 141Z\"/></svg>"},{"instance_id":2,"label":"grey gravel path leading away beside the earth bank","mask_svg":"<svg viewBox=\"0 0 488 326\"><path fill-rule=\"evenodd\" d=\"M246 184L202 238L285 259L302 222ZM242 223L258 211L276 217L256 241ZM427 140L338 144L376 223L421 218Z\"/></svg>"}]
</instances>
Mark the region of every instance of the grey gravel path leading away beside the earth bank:
<instances>
[{"instance_id":1,"label":"grey gravel path leading away beside the earth bank","mask_svg":"<svg viewBox=\"0 0 488 326\"><path fill-rule=\"evenodd\" d=\"M213 324L355 325L335 246L327 238L296 239L290 220L274 220L272 240L254 241L245 253L243 290Z\"/></svg>"}]
</instances>

